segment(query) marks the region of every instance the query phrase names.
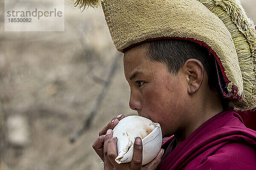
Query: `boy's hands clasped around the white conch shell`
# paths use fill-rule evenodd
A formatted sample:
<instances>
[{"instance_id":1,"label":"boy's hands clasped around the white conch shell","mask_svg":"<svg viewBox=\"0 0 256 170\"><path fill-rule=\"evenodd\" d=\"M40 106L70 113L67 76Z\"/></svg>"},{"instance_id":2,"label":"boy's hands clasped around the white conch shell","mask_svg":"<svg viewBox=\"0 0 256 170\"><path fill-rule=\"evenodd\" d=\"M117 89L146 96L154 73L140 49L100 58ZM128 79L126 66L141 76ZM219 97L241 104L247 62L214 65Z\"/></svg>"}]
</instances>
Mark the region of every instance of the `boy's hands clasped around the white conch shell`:
<instances>
[{"instance_id":1,"label":"boy's hands clasped around the white conch shell","mask_svg":"<svg viewBox=\"0 0 256 170\"><path fill-rule=\"evenodd\" d=\"M116 163L117 138L112 138L113 128L117 125L119 120L124 117L123 114L113 117L111 122L99 132L99 138L93 143L93 149L104 162L104 170L155 170L161 162L164 153L163 149L160 150L158 155L151 162L142 166L143 145L139 137L137 137L137 140L134 142L134 155L132 161L122 164Z\"/></svg>"}]
</instances>

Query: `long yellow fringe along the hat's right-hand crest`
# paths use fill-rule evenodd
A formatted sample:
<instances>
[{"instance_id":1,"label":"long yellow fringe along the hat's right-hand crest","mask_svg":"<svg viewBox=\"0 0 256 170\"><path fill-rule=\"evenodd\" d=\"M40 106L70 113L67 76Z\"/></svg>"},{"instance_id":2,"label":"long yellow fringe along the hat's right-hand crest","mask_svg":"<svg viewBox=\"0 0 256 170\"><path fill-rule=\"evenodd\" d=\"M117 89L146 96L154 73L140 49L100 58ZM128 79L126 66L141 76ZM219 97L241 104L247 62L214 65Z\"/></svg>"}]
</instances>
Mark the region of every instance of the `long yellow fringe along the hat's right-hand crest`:
<instances>
[{"instance_id":1,"label":"long yellow fringe along the hat's right-hand crest","mask_svg":"<svg viewBox=\"0 0 256 170\"><path fill-rule=\"evenodd\" d=\"M198 1L207 6L214 14L218 14L218 17L223 21L229 31L239 30L239 32L230 31L230 34L236 47L243 77L243 97L241 102L230 102L230 106L235 110L241 111L256 108L256 30L253 21L247 17L239 0ZM221 7L222 10L227 12L237 27L236 29L231 28L232 24L227 24L229 19L227 19L225 14L221 15L220 9L216 8L216 6ZM250 48L249 50L246 48L248 46Z\"/></svg>"}]
</instances>

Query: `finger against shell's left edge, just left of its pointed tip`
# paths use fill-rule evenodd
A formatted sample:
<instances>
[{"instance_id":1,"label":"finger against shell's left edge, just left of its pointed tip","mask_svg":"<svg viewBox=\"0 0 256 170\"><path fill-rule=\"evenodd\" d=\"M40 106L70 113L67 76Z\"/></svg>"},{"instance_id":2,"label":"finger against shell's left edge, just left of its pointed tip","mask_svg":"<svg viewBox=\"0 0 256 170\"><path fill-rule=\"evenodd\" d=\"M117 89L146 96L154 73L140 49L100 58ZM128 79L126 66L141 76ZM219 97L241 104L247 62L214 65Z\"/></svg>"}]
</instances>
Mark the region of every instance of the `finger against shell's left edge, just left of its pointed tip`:
<instances>
[{"instance_id":1,"label":"finger against shell's left edge, just left of its pointed tip","mask_svg":"<svg viewBox=\"0 0 256 170\"><path fill-rule=\"evenodd\" d=\"M119 164L117 164L115 161L117 157L116 142L116 137L113 137L108 141L108 159L111 161L114 167L119 166Z\"/></svg>"}]
</instances>

